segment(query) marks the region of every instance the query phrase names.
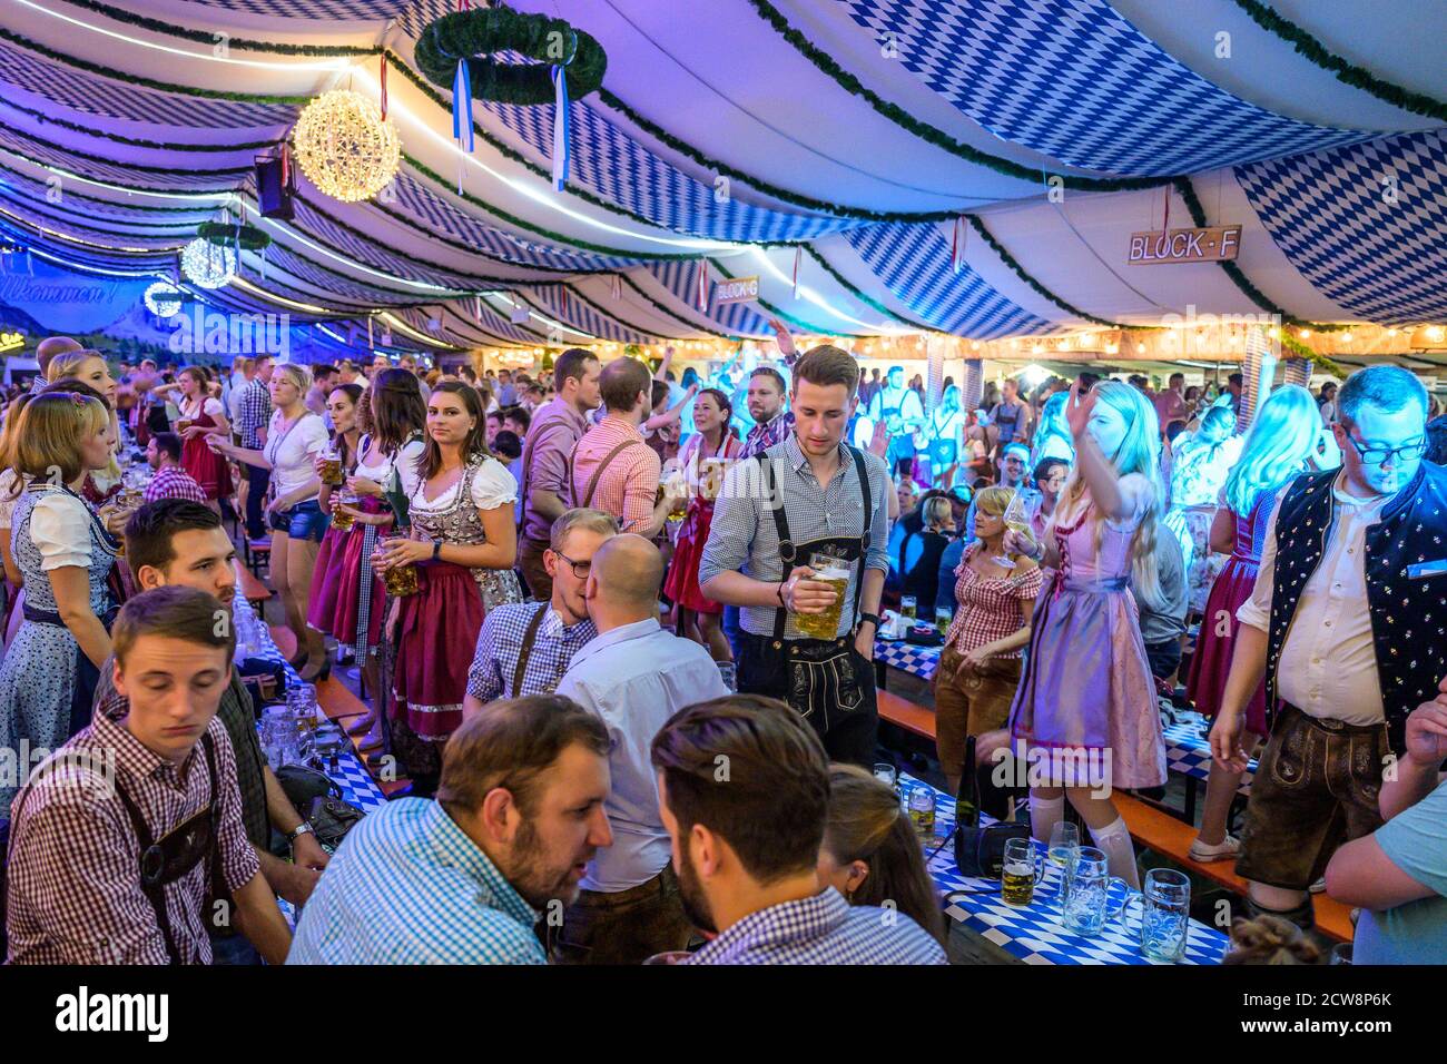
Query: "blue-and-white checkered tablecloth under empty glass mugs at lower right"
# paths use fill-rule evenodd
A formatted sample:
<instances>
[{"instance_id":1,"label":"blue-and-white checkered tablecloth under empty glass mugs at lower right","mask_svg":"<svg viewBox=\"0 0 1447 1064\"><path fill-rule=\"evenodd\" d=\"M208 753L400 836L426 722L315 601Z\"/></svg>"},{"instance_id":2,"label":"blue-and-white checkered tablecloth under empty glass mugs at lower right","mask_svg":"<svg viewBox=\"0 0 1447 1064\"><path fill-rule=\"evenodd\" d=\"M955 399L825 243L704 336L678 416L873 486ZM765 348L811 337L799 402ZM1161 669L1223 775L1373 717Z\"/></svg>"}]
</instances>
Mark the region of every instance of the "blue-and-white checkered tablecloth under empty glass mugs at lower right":
<instances>
[{"instance_id":1,"label":"blue-and-white checkered tablecloth under empty glass mugs at lower right","mask_svg":"<svg viewBox=\"0 0 1447 1064\"><path fill-rule=\"evenodd\" d=\"M900 774L900 790L925 786L922 780ZM955 864L954 843L939 844L955 822L955 802L942 790L935 790L936 840L926 850L929 873L946 895L955 890L987 890L988 893L962 893L949 899L946 915L994 942L1011 957L1026 964L1150 964L1140 953L1140 909L1132 906L1126 918L1117 918L1095 937L1078 935L1066 929L1061 919L1061 871L1045 863L1045 877L1035 887L1035 900L1024 908L1006 905L1000 896L1000 883L988 879L968 879ZM903 799L901 799L903 801ZM938 848L938 853L935 850ZM1130 892L1136 893L1136 892ZM1110 893L1111 906L1119 908L1124 899L1121 887ZM1113 909L1114 911L1114 909ZM1191 921L1187 932L1185 958L1182 964L1220 964L1230 941L1226 935L1205 924Z\"/></svg>"}]
</instances>

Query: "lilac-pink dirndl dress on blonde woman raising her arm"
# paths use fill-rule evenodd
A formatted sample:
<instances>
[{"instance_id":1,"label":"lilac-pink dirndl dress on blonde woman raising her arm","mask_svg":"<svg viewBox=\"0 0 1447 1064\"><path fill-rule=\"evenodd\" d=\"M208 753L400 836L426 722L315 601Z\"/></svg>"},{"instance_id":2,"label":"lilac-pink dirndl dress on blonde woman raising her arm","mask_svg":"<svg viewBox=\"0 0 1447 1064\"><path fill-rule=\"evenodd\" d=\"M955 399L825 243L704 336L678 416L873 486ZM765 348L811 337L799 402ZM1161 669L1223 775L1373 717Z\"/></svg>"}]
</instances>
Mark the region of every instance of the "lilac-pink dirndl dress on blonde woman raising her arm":
<instances>
[{"instance_id":1,"label":"lilac-pink dirndl dress on blonde woman raising her arm","mask_svg":"<svg viewBox=\"0 0 1447 1064\"><path fill-rule=\"evenodd\" d=\"M1061 567L1036 599L1010 737L1017 750L1023 743L1069 751L1108 767L1106 779L1114 789L1155 788L1166 782L1166 750L1127 586L1139 518L1126 528L1101 523L1097 549L1092 510L1088 505L1074 524L1055 528ZM1053 782L1085 786L1078 777Z\"/></svg>"}]
</instances>

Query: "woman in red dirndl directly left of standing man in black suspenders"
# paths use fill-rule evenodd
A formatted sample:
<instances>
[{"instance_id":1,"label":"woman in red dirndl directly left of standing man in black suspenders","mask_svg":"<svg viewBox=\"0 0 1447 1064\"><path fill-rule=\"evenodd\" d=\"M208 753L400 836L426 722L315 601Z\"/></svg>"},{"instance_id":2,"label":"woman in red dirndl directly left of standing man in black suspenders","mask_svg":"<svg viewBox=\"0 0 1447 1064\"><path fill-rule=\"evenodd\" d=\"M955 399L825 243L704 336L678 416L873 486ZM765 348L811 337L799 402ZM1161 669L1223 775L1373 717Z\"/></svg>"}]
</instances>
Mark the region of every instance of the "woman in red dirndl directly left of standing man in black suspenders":
<instances>
[{"instance_id":1,"label":"woman in red dirndl directly left of standing man in black suspenders","mask_svg":"<svg viewBox=\"0 0 1447 1064\"><path fill-rule=\"evenodd\" d=\"M669 563L663 594L679 611L683 634L708 647L715 662L732 662L734 650L724 634L724 607L699 591L699 560L713 524L713 501L724 486L724 475L742 450L729 427L734 404L718 388L705 388L693 400L693 424L697 431L679 452L679 463L689 485L689 508L679 530L679 541Z\"/></svg>"}]
</instances>

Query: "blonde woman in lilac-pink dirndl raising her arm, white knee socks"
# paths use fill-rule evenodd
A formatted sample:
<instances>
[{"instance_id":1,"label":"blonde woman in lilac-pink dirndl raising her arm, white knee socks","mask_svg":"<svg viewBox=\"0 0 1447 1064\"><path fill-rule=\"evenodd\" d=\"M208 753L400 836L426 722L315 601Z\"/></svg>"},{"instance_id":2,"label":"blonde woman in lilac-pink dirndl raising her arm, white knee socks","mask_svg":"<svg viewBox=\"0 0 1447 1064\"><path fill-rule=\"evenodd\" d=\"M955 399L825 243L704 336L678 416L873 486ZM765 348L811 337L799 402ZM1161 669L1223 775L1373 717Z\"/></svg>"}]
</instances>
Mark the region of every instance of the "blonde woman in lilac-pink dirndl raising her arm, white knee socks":
<instances>
[{"instance_id":1,"label":"blonde woman in lilac-pink dirndl raising her arm, white knee socks","mask_svg":"<svg viewBox=\"0 0 1447 1064\"><path fill-rule=\"evenodd\" d=\"M1110 873L1139 886L1111 789L1166 780L1156 685L1130 586L1147 604L1162 599L1155 543L1169 533L1156 527L1160 431L1155 407L1119 381L1087 395L1072 385L1065 418L1077 466L1046 541L1016 531L1004 540L1006 550L1056 570L1036 604L1010 737L1016 754L1030 760L1030 779L1051 780L1030 788L1035 837L1049 840L1068 798Z\"/></svg>"}]
</instances>

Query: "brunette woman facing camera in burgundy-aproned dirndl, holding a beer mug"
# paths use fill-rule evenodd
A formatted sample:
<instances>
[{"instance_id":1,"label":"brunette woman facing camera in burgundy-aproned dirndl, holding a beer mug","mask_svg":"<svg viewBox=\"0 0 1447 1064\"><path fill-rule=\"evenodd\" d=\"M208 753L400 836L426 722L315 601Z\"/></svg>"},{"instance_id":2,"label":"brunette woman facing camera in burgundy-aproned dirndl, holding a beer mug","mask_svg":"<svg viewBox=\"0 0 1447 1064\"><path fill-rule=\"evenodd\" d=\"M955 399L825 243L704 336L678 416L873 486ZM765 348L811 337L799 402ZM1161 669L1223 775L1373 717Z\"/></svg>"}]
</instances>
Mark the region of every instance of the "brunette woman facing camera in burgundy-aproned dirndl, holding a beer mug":
<instances>
[{"instance_id":1,"label":"brunette woman facing camera in burgundy-aproned dirndl, holding a beer mug","mask_svg":"<svg viewBox=\"0 0 1447 1064\"><path fill-rule=\"evenodd\" d=\"M427 443L415 468L402 469L411 533L383 540L373 567L383 576L417 566L418 591L392 612L392 751L412 779L412 793L436 790L441 751L462 724L478 631L488 609L521 602L512 566L518 539L512 504L518 485L488 453L486 414L478 391L444 381L427 402Z\"/></svg>"}]
</instances>

